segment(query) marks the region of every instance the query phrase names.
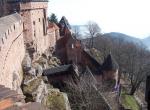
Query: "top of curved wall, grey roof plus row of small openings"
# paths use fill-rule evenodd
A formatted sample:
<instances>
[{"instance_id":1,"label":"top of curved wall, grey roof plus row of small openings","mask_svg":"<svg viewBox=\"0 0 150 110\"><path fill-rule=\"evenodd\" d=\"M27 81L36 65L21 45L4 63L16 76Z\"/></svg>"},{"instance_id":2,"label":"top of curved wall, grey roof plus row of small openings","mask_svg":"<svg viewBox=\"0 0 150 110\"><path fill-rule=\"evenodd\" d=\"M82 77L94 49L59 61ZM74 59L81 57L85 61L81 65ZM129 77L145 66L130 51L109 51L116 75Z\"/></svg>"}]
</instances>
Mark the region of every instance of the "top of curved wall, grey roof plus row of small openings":
<instances>
[{"instance_id":1,"label":"top of curved wall, grey roof plus row of small openings","mask_svg":"<svg viewBox=\"0 0 150 110\"><path fill-rule=\"evenodd\" d=\"M0 18L0 51L8 39L15 39L9 37L17 32L21 25L21 16L17 13Z\"/></svg>"}]
</instances>

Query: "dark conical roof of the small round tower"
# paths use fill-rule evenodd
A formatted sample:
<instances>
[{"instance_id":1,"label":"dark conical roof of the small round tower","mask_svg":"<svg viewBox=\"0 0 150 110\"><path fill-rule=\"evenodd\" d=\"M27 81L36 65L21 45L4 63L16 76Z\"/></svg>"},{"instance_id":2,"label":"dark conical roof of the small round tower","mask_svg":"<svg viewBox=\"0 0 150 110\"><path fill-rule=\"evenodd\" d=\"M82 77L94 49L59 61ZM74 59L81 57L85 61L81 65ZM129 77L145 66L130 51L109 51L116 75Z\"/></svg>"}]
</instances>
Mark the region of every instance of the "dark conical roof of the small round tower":
<instances>
[{"instance_id":1,"label":"dark conical roof of the small round tower","mask_svg":"<svg viewBox=\"0 0 150 110\"><path fill-rule=\"evenodd\" d=\"M119 65L114 59L114 57L111 54L109 54L107 58L104 60L102 68L104 71L117 70L119 69Z\"/></svg>"}]
</instances>

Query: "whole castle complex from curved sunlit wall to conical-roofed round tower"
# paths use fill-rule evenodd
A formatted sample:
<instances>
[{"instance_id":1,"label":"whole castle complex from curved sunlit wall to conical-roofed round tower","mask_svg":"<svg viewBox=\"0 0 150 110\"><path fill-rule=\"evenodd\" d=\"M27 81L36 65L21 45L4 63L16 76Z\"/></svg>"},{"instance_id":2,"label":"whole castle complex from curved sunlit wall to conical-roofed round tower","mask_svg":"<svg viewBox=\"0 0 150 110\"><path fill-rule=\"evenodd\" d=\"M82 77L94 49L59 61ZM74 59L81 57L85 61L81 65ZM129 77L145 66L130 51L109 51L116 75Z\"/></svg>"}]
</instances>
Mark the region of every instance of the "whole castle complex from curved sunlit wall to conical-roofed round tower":
<instances>
[{"instance_id":1,"label":"whole castle complex from curved sunlit wall to conical-roofed round tower","mask_svg":"<svg viewBox=\"0 0 150 110\"><path fill-rule=\"evenodd\" d=\"M60 69L56 72L66 75L66 71L67 74L73 73L70 71L75 71L74 67L88 66L97 81L115 79L117 82L118 65L113 57L108 55L100 64L72 35L65 17L58 26L48 22L47 8L48 0L0 1L0 85L18 91L23 80L22 61L25 54L31 52L30 57L34 61L50 47L56 50L62 64L69 64L53 69ZM64 67L66 70L62 69ZM51 80L59 77L59 74L55 77L51 69L46 74L53 74ZM72 75L69 77L72 78Z\"/></svg>"}]
</instances>

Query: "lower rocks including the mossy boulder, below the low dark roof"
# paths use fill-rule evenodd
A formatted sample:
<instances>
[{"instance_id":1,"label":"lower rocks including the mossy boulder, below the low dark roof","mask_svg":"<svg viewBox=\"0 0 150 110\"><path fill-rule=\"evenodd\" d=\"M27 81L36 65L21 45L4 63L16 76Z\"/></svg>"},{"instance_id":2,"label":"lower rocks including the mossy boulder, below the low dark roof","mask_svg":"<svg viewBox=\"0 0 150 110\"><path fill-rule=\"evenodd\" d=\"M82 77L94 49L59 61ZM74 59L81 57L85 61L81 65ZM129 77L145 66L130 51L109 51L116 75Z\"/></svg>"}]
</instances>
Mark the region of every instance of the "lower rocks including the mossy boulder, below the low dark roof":
<instances>
[{"instance_id":1,"label":"lower rocks including the mossy boulder, below the low dark roof","mask_svg":"<svg viewBox=\"0 0 150 110\"><path fill-rule=\"evenodd\" d=\"M29 76L27 76L29 78ZM42 77L29 78L26 85L23 86L23 92L26 96L26 102L39 102L50 110L71 110L67 94L48 87Z\"/></svg>"}]
</instances>

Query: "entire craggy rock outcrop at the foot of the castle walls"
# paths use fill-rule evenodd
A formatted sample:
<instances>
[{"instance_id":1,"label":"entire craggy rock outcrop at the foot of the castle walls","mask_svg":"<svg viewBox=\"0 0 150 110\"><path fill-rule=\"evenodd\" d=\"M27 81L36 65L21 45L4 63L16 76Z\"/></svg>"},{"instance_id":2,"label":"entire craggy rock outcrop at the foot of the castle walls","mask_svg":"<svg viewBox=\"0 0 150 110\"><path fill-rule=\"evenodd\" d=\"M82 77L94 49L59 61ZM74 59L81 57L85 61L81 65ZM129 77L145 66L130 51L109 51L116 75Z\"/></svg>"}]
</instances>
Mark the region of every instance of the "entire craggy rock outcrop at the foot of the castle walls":
<instances>
[{"instance_id":1,"label":"entire craggy rock outcrop at the foot of the castle walls","mask_svg":"<svg viewBox=\"0 0 150 110\"><path fill-rule=\"evenodd\" d=\"M26 54L22 63L24 70L22 90L26 96L25 100L41 103L50 110L71 110L67 95L54 89L48 84L47 77L42 76L43 69L61 64L60 60L52 55L52 51L48 50L34 62L29 54Z\"/></svg>"}]
</instances>

